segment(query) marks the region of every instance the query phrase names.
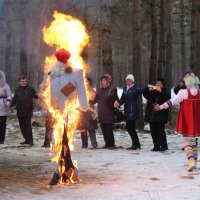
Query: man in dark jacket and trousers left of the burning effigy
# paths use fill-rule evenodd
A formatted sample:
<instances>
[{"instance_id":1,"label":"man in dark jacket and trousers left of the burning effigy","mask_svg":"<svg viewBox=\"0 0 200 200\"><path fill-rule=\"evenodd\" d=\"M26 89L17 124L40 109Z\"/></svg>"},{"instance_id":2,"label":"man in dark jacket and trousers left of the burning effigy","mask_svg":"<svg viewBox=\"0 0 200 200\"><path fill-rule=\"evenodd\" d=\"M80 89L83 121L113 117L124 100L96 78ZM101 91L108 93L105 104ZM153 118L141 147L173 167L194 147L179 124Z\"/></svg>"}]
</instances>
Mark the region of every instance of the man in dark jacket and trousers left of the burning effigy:
<instances>
[{"instance_id":1,"label":"man in dark jacket and trousers left of the burning effigy","mask_svg":"<svg viewBox=\"0 0 200 200\"><path fill-rule=\"evenodd\" d=\"M19 87L15 90L11 104L11 106L16 106L20 129L25 139L20 144L34 145L31 117L33 115L33 99L37 98L35 89L27 85L26 76L21 75L19 77Z\"/></svg>"}]
</instances>

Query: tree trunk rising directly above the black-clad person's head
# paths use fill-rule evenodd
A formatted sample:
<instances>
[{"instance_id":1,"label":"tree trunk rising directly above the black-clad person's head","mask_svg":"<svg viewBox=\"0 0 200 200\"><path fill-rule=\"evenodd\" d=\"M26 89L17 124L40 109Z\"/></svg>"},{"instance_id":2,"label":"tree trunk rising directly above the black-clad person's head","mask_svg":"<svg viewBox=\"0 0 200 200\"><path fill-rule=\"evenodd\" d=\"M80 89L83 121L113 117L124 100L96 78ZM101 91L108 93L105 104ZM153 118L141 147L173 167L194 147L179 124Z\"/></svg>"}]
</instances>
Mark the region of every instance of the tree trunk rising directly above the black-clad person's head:
<instances>
[{"instance_id":1,"label":"tree trunk rising directly above the black-clad person's head","mask_svg":"<svg viewBox=\"0 0 200 200\"><path fill-rule=\"evenodd\" d=\"M159 56L158 56L158 67L157 76L162 77L165 70L165 0L160 0L159 5Z\"/></svg>"}]
</instances>

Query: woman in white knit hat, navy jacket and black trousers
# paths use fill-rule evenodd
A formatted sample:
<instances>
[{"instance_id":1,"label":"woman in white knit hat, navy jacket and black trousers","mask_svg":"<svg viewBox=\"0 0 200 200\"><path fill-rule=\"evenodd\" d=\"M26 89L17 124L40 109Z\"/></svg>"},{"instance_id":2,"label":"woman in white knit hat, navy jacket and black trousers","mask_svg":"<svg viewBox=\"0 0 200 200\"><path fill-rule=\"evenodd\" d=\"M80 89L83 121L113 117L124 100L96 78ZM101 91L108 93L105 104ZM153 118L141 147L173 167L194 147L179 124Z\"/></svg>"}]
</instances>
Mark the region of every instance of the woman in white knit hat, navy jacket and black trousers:
<instances>
[{"instance_id":1,"label":"woman in white knit hat, navy jacket and black trousers","mask_svg":"<svg viewBox=\"0 0 200 200\"><path fill-rule=\"evenodd\" d=\"M143 93L143 89L135 85L135 79L132 74L126 77L126 87L119 102L115 102L114 106L118 107L124 104L124 117L126 120L126 128L132 140L132 146L128 150L140 149L140 141L135 130L135 120L139 117L139 105L137 103L138 96Z\"/></svg>"}]
</instances>

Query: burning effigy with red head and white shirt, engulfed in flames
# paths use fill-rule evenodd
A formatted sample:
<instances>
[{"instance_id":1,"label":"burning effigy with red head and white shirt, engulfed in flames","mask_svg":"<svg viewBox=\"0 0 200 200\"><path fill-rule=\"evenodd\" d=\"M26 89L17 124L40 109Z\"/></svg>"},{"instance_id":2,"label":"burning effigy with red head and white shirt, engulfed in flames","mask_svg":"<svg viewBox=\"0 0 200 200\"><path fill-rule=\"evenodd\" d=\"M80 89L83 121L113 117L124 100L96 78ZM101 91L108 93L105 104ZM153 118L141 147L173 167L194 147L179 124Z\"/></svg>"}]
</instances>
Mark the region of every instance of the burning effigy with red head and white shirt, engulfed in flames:
<instances>
[{"instance_id":1,"label":"burning effigy with red head and white shirt, engulfed in flames","mask_svg":"<svg viewBox=\"0 0 200 200\"><path fill-rule=\"evenodd\" d=\"M43 36L56 53L46 57L41 94L44 107L53 118L52 162L57 163L49 185L78 181L71 151L80 111L88 109L84 81L88 67L81 53L89 36L80 20L57 11L53 17L50 26L43 28Z\"/></svg>"}]
</instances>

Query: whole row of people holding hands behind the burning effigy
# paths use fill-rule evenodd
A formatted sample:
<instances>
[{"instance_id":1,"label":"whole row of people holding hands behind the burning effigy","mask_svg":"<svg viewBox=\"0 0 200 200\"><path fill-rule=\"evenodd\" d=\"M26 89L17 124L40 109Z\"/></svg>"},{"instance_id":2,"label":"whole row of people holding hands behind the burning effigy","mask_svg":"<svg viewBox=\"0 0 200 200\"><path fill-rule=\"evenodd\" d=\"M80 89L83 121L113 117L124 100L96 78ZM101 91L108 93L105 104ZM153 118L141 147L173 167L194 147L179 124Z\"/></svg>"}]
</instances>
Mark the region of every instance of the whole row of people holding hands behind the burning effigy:
<instances>
[{"instance_id":1,"label":"whole row of people holding hands behind the burning effigy","mask_svg":"<svg viewBox=\"0 0 200 200\"><path fill-rule=\"evenodd\" d=\"M155 85L140 88L135 85L134 76L126 77L126 86L122 96L118 98L117 88L112 84L112 78L105 74L100 78L100 86L95 91L92 81L89 83L90 108L82 114L78 129L81 130L82 147L88 147L89 132L93 148L97 148L95 129L97 118L103 133L105 146L103 148L114 149L115 140L113 134L115 109L124 105L124 118L126 128L130 135L132 145L128 149L140 149L141 144L135 128L135 121L139 117L138 97L143 94L147 100L145 121L150 124L153 140L152 151L165 151L168 149L165 124L168 121L168 108L181 103L177 118L176 129L184 136L185 152L189 160L189 169L194 169L197 161L197 146L195 137L200 135L200 91L199 81L192 72L187 72L183 80L174 88L175 96L170 99L170 93L165 89L165 81L158 78ZM4 143L6 121L9 109L16 106L20 129L24 137L21 144L33 145L31 117L33 114L33 99L37 99L37 93L33 87L27 85L26 76L19 77L19 86L15 90L14 97L10 86L6 83L5 74L0 71L0 144ZM94 105L98 103L98 114Z\"/></svg>"}]
</instances>

